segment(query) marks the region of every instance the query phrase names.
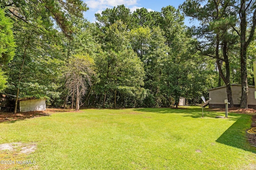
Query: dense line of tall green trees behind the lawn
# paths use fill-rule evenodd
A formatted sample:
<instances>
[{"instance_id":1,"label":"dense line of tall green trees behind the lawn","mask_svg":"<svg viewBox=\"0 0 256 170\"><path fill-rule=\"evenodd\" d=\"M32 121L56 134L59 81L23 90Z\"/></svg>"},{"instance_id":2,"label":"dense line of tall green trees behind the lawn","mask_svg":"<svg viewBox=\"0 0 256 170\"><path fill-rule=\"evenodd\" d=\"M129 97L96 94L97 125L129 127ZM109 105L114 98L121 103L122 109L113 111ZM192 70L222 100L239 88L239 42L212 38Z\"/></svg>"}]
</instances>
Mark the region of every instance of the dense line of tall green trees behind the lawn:
<instances>
[{"instance_id":1,"label":"dense line of tall green trees behind the lawn","mask_svg":"<svg viewBox=\"0 0 256 170\"><path fill-rule=\"evenodd\" d=\"M178 107L208 89L254 85L255 2L186 0L179 9L124 5L83 18L81 0L0 2L0 91L49 107ZM200 21L187 27L184 17ZM16 109L15 109L16 110Z\"/></svg>"}]
</instances>

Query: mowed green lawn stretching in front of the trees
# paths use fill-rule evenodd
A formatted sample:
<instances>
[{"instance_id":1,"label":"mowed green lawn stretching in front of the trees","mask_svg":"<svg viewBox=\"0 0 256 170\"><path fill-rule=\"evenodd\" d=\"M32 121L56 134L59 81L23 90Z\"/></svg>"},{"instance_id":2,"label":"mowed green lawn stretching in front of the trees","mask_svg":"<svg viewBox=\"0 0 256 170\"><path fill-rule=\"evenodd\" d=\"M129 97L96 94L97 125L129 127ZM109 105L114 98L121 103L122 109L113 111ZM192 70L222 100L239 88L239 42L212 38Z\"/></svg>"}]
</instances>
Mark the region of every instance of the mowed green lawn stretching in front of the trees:
<instances>
[{"instance_id":1,"label":"mowed green lawn stretching in front of the trees","mask_svg":"<svg viewBox=\"0 0 256 170\"><path fill-rule=\"evenodd\" d=\"M0 144L36 143L25 160L40 170L250 170L251 115L200 107L84 109L0 123ZM1 166L1 165L0 165ZM1 168L0 168L1 169ZM15 169L15 168L14 168Z\"/></svg>"}]
</instances>

